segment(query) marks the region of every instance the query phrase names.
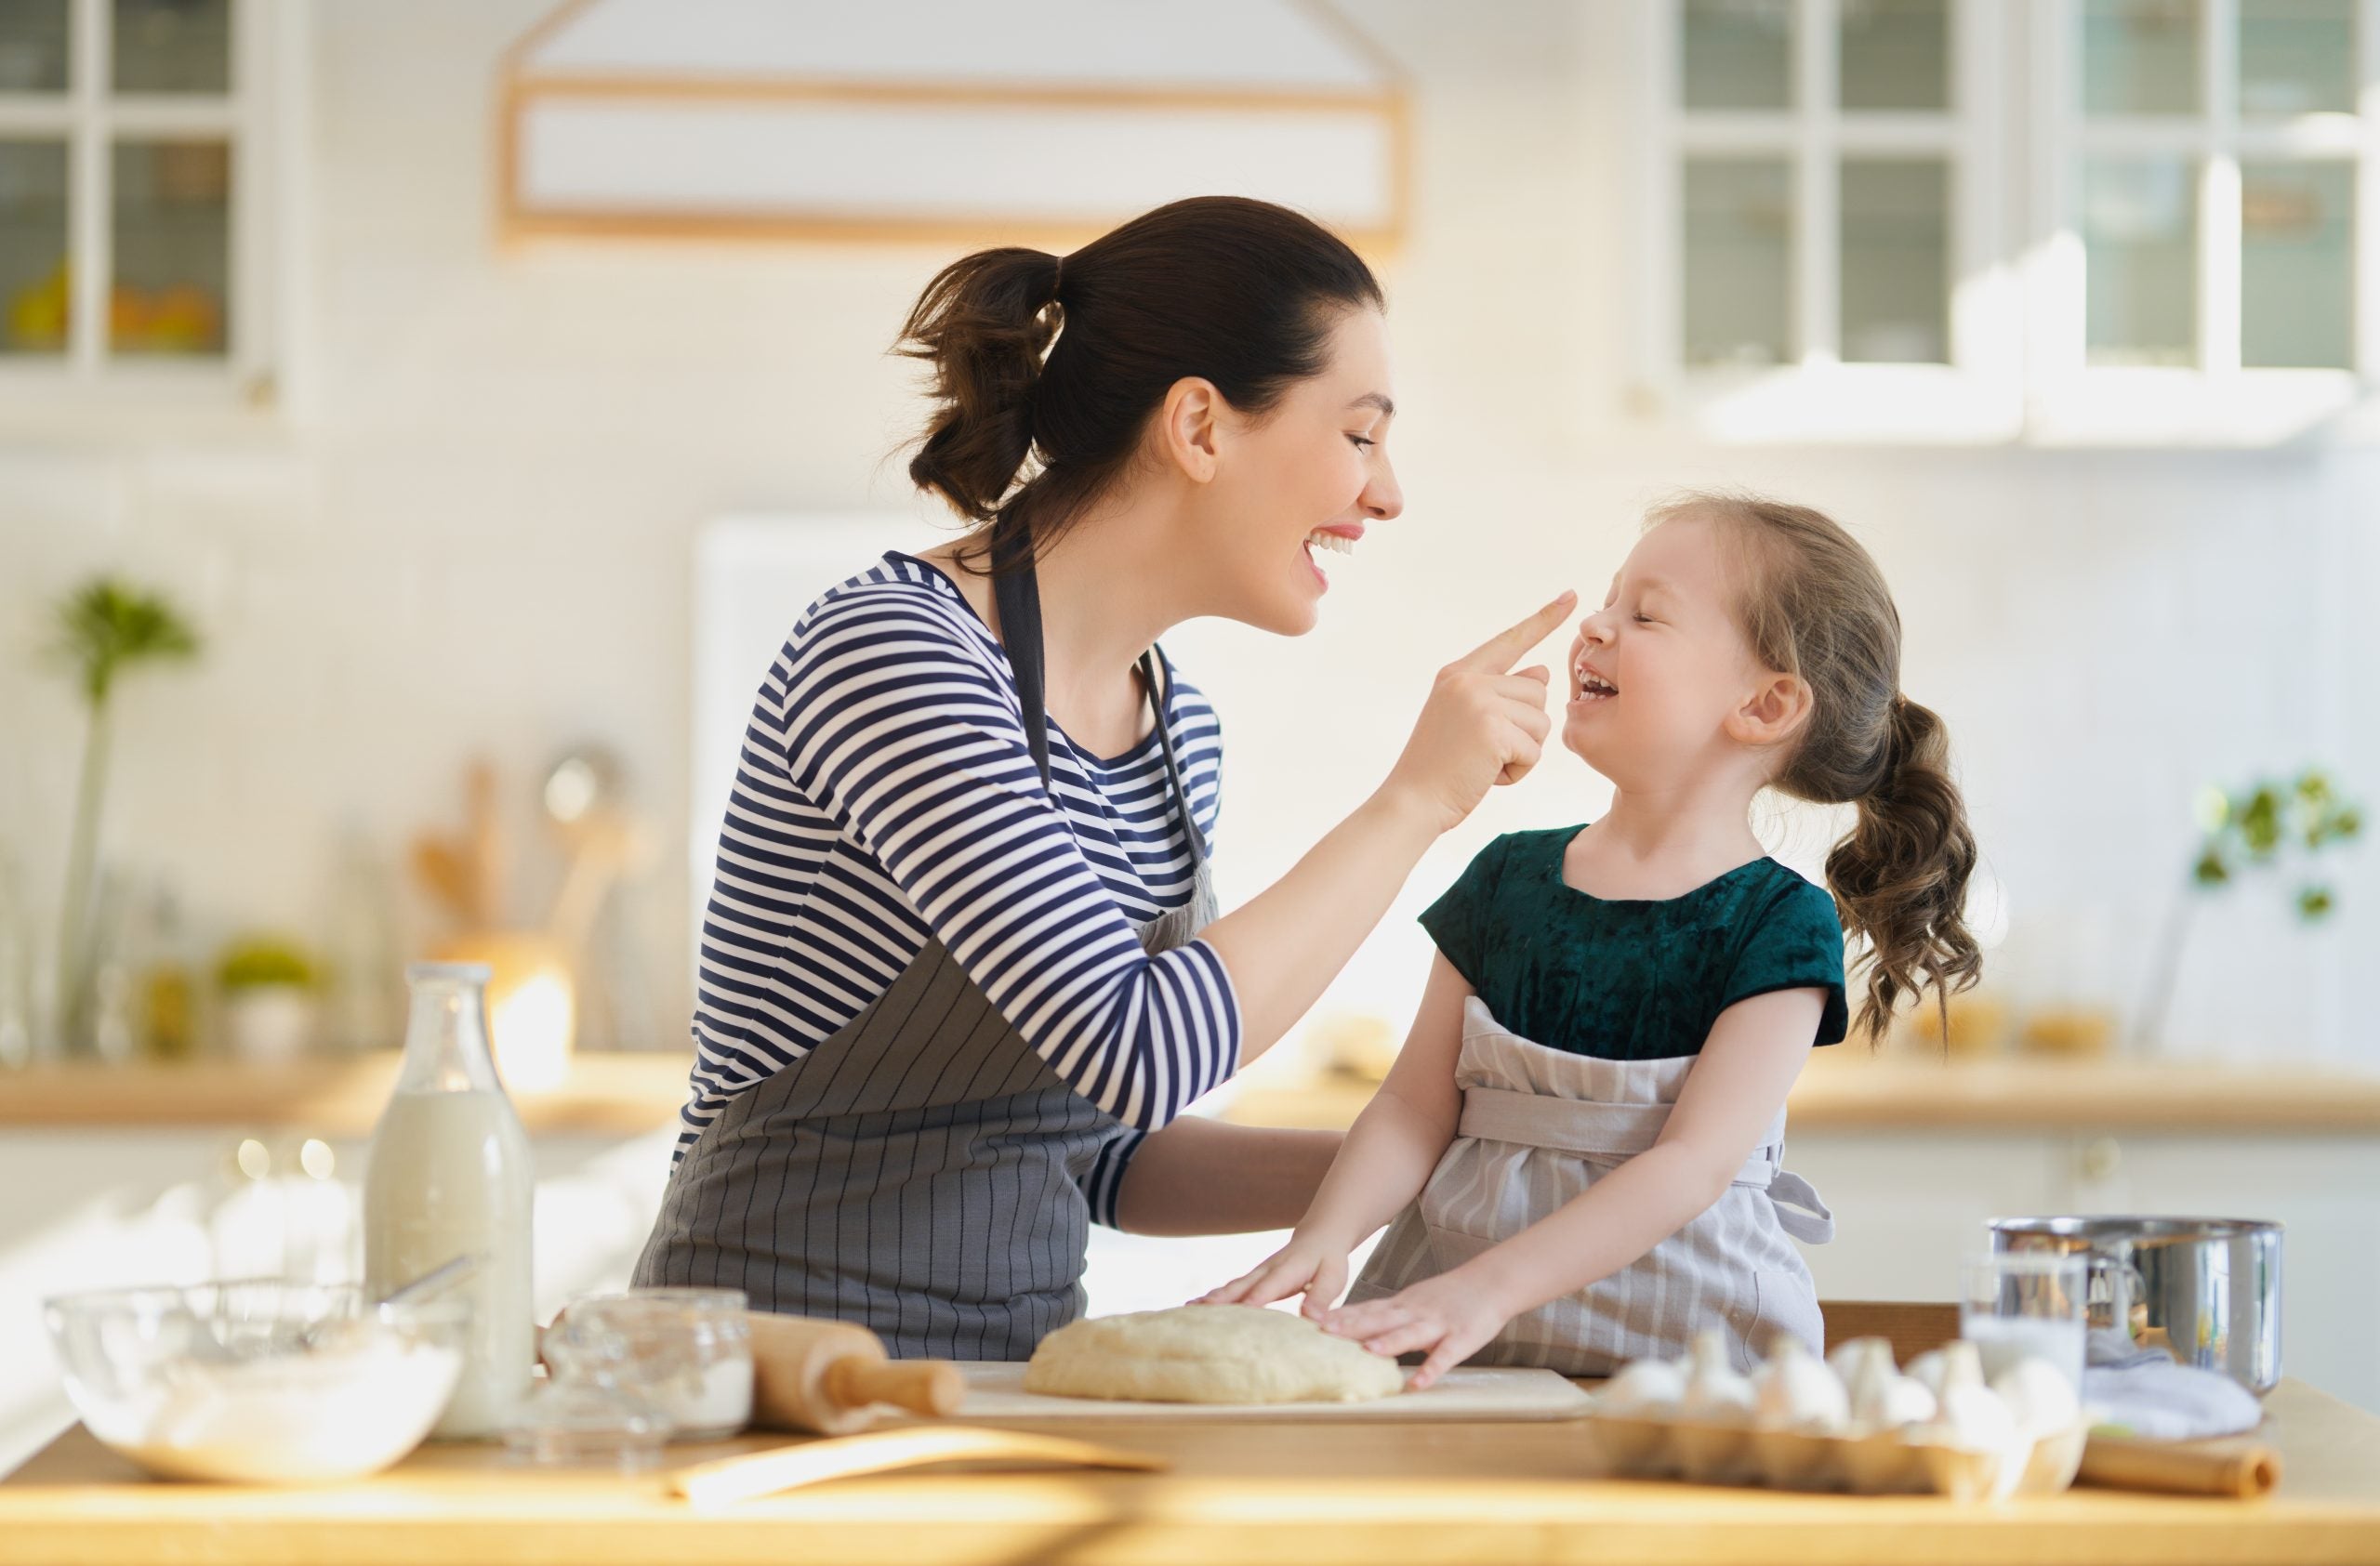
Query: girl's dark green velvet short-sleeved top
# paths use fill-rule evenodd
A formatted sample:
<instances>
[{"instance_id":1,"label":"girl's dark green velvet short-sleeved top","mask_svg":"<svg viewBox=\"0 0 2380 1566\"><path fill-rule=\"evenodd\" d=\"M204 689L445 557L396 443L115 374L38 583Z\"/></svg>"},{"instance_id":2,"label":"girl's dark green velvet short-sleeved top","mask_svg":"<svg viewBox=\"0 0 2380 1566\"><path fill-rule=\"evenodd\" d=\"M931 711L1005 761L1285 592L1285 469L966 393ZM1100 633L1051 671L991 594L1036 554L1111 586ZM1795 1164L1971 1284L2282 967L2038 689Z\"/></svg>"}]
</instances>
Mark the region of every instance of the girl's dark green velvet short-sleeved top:
<instances>
[{"instance_id":1,"label":"girl's dark green velvet short-sleeved top","mask_svg":"<svg viewBox=\"0 0 2380 1566\"><path fill-rule=\"evenodd\" d=\"M1699 1054L1718 1014L1771 990L1825 990L1814 1042L1847 1031L1842 923L1825 888L1775 859L1683 897L1611 900L1564 883L1580 831L1490 842L1421 926L1511 1033L1571 1054Z\"/></svg>"}]
</instances>

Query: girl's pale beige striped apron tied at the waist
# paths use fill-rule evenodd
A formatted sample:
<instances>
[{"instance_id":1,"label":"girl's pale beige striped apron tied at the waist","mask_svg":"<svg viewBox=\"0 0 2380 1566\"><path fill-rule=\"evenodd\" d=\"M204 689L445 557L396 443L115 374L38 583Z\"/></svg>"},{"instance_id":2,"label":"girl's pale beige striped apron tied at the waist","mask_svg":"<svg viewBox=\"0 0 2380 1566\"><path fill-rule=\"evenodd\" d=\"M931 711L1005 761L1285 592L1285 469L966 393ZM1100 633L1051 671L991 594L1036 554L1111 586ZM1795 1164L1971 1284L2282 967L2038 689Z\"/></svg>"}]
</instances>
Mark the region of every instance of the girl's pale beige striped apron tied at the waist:
<instances>
[{"instance_id":1,"label":"girl's pale beige striped apron tied at the waist","mask_svg":"<svg viewBox=\"0 0 2380 1566\"><path fill-rule=\"evenodd\" d=\"M1507 1033L1480 997L1466 1000L1454 1145L1347 1297L1392 1295L1549 1216L1654 1145L1692 1066L1690 1054L1609 1061L1549 1050ZM1647 1354L1678 1359L1704 1328L1721 1330L1747 1371L1775 1333L1821 1349L1818 1290L1792 1240L1833 1240L1835 1216L1809 1180L1785 1173L1783 1154L1780 1109L1709 1211L1609 1278L1514 1316L1468 1364L1609 1376Z\"/></svg>"}]
</instances>

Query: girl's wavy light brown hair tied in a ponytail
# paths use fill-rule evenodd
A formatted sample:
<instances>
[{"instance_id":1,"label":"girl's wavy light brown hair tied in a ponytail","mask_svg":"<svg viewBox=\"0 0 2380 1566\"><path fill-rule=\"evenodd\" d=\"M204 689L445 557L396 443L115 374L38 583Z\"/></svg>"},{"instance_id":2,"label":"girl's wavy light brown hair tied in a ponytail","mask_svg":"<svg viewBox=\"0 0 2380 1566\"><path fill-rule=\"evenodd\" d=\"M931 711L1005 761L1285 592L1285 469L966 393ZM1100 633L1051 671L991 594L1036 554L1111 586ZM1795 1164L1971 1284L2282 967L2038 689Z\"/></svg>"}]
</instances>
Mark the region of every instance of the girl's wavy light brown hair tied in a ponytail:
<instances>
[{"instance_id":1,"label":"girl's wavy light brown hair tied in a ponytail","mask_svg":"<svg viewBox=\"0 0 2380 1566\"><path fill-rule=\"evenodd\" d=\"M1947 1007L1983 976L1966 928L1975 835L1949 776L1949 731L1902 695L1902 614L1875 559L1840 524L1756 495L1683 495L1652 524L1673 516L1709 516L1737 535L1745 640L1761 664L1809 685L1811 714L1771 785L1859 807L1825 857L1825 883L1842 928L1866 947L1854 969L1866 978L1856 1028L1880 1040L1902 1000L1933 990Z\"/></svg>"}]
</instances>

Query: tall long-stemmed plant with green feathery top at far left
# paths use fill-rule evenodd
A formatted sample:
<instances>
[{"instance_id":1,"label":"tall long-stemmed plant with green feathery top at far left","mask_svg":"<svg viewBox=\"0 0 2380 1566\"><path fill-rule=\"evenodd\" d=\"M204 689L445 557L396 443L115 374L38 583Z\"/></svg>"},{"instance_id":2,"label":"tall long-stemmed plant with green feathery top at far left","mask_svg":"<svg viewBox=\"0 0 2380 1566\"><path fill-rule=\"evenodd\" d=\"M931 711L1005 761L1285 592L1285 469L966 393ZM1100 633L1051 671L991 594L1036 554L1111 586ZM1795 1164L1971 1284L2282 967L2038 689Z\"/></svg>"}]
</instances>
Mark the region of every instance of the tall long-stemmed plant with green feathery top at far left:
<instances>
[{"instance_id":1,"label":"tall long-stemmed plant with green feathery top at far left","mask_svg":"<svg viewBox=\"0 0 2380 1566\"><path fill-rule=\"evenodd\" d=\"M74 828L67 838L67 888L57 919L57 1033L69 1047L86 1040L90 1021L93 912L100 857L100 809L107 800L107 754L121 681L148 664L198 657L198 631L162 595L117 576L95 576L52 607L57 664L74 678L88 709L83 764L74 788Z\"/></svg>"}]
</instances>

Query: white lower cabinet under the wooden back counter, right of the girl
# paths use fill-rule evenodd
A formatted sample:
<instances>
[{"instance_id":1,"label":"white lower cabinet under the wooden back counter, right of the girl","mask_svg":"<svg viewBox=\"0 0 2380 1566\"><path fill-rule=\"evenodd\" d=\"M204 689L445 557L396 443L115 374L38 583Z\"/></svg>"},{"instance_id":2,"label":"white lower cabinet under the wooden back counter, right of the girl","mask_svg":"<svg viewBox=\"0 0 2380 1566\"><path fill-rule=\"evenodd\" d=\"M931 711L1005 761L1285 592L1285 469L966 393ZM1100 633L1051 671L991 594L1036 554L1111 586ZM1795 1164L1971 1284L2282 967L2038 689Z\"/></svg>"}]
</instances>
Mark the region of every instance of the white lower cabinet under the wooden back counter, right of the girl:
<instances>
[{"instance_id":1,"label":"white lower cabinet under the wooden back counter, right of the girl","mask_svg":"<svg viewBox=\"0 0 2380 1566\"><path fill-rule=\"evenodd\" d=\"M1985 1219L2278 1219L2282 1366L2380 1409L2380 1142L2313 1135L1809 1133L1787 1169L1835 1211L1828 1299L1954 1299Z\"/></svg>"}]
</instances>

